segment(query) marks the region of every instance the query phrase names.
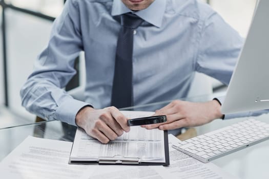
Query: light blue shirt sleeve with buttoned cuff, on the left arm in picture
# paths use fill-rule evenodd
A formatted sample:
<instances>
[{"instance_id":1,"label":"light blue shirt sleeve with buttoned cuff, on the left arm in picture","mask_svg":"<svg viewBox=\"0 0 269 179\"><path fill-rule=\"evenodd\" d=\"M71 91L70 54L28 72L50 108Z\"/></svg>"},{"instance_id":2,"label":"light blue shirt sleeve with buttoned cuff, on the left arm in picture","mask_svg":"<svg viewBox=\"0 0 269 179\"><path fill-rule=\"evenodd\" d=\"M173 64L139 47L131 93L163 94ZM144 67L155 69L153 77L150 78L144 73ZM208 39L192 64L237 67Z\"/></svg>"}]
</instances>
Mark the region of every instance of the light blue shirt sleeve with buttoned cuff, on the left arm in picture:
<instances>
[{"instance_id":1,"label":"light blue shirt sleeve with buttoned cuff, on the left arm in picture","mask_svg":"<svg viewBox=\"0 0 269 179\"><path fill-rule=\"evenodd\" d=\"M75 58L82 50L79 9L67 1L56 18L46 49L38 56L34 71L20 91L22 105L47 120L75 125L78 110L88 103L73 99L63 89L75 75Z\"/></svg>"}]
</instances>

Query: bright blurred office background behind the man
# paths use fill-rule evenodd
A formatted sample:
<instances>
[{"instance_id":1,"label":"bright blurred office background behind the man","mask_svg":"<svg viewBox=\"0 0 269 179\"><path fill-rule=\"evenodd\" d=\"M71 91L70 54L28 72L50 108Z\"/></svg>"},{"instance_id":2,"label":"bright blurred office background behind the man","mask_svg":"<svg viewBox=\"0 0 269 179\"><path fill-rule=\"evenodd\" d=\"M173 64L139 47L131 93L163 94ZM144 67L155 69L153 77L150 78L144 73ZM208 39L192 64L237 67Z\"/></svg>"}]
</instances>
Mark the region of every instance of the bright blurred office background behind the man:
<instances>
[{"instance_id":1,"label":"bright blurred office background behind the man","mask_svg":"<svg viewBox=\"0 0 269 179\"><path fill-rule=\"evenodd\" d=\"M0 128L3 128L35 120L35 116L21 106L19 91L32 72L34 60L46 46L53 19L60 14L65 1L0 0L0 2L0 106L2 106ZM204 2L209 3L243 37L246 36L256 0ZM3 29L5 29L4 33ZM83 58L82 55L80 58ZM78 81L82 84L84 82L83 60L80 60L79 65L81 68ZM203 84L203 81L200 81L200 84ZM212 79L210 84L213 92L221 86L219 82Z\"/></svg>"}]
</instances>

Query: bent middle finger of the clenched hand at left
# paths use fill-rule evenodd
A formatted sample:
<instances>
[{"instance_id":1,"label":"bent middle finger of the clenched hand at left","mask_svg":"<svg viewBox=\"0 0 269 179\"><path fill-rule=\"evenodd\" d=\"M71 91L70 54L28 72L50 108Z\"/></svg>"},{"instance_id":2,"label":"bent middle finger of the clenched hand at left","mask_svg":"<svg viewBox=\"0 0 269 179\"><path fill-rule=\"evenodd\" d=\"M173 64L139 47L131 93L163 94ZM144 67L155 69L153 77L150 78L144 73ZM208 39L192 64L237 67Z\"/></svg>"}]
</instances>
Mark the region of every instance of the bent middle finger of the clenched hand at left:
<instances>
[{"instance_id":1,"label":"bent middle finger of the clenched hand at left","mask_svg":"<svg viewBox=\"0 0 269 179\"><path fill-rule=\"evenodd\" d=\"M100 115L99 118L104 121L112 130L114 130L114 132L117 133L117 136L121 136L123 134L122 128L109 112Z\"/></svg>"}]
</instances>

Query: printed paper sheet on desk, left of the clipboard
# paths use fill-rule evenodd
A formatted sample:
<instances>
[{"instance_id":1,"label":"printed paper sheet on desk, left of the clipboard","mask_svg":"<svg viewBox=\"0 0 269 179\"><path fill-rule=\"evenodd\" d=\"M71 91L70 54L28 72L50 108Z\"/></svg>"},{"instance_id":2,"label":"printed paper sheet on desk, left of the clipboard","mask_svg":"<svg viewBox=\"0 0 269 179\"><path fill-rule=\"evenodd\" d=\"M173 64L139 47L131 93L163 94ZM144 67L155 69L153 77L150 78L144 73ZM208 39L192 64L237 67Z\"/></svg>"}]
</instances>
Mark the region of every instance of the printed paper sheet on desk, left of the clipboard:
<instances>
[{"instance_id":1,"label":"printed paper sheet on desk, left of the clipboard","mask_svg":"<svg viewBox=\"0 0 269 179\"><path fill-rule=\"evenodd\" d=\"M27 137L1 163L1 178L79 178L88 166L69 165L72 142Z\"/></svg>"}]
</instances>

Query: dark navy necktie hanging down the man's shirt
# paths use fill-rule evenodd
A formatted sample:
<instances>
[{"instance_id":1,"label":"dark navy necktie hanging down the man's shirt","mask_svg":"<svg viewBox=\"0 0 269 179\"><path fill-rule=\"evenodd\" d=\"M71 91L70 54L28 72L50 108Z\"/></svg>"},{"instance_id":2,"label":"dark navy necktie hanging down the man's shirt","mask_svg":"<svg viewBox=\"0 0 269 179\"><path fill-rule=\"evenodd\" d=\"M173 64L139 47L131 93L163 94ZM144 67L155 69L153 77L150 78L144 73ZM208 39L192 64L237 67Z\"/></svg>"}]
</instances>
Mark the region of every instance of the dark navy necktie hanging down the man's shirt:
<instances>
[{"instance_id":1,"label":"dark navy necktie hanging down the man's shirt","mask_svg":"<svg viewBox=\"0 0 269 179\"><path fill-rule=\"evenodd\" d=\"M132 106L133 103L133 35L142 22L143 19L135 14L121 15L111 97L111 105L117 108Z\"/></svg>"}]
</instances>

